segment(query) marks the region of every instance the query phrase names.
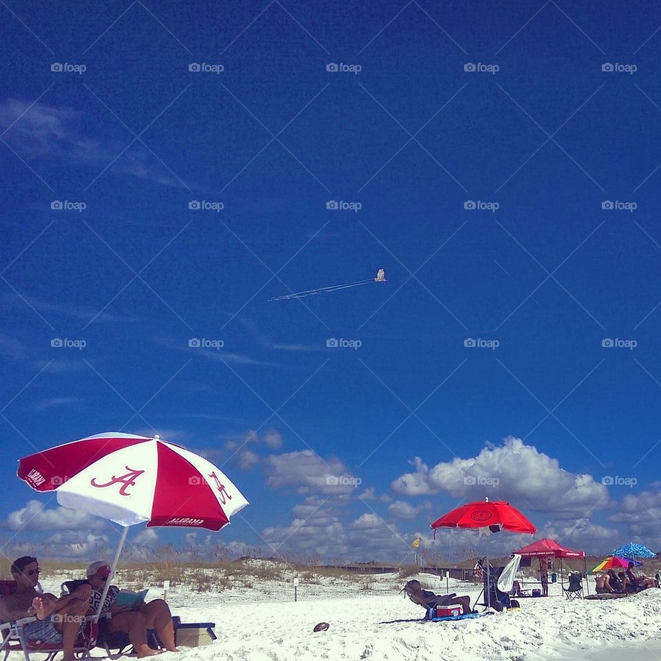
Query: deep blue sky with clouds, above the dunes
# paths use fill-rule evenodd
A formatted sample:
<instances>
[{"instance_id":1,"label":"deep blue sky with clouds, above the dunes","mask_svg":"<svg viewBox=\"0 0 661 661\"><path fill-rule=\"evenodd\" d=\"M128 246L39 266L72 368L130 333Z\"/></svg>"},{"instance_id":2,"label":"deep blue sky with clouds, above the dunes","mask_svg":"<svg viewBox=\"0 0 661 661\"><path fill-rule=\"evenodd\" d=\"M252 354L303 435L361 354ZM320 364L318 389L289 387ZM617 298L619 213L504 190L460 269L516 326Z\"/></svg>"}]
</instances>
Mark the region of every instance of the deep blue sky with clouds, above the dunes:
<instances>
[{"instance_id":1,"label":"deep blue sky with clouds, above the dunes","mask_svg":"<svg viewBox=\"0 0 661 661\"><path fill-rule=\"evenodd\" d=\"M3 552L112 547L14 474L107 430L251 501L146 547L395 560L484 496L569 546L661 547L657 7L0 12Z\"/></svg>"}]
</instances>

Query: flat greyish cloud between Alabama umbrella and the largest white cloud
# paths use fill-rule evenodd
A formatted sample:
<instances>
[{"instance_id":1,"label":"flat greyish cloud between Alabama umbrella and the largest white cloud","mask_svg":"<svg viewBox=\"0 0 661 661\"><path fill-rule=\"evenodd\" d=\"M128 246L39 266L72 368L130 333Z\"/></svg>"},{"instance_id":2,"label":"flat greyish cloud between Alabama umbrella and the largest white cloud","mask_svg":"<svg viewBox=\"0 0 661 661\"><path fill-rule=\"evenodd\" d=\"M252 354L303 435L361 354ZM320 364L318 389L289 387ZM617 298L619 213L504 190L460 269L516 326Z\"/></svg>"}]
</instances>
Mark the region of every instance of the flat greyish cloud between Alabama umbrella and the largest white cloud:
<instances>
[{"instance_id":1,"label":"flat greyish cloud between Alabama umbrella and the largest white cloud","mask_svg":"<svg viewBox=\"0 0 661 661\"><path fill-rule=\"evenodd\" d=\"M356 486L355 477L335 457L322 459L313 450L271 454L264 461L268 479L274 488L295 487L300 493L328 495L349 494Z\"/></svg>"}]
</instances>

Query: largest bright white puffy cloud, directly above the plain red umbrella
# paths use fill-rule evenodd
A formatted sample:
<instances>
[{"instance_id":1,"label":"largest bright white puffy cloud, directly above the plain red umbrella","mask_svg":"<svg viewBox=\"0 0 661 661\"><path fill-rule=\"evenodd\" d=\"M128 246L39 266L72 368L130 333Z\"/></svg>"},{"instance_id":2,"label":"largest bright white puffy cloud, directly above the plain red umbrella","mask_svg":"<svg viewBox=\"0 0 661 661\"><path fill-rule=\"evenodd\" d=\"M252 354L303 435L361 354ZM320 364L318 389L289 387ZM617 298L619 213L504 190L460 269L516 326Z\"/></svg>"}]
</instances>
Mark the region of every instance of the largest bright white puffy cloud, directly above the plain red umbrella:
<instances>
[{"instance_id":1,"label":"largest bright white puffy cloud, directly above the plain red umbrella","mask_svg":"<svg viewBox=\"0 0 661 661\"><path fill-rule=\"evenodd\" d=\"M588 474L560 468L557 459L521 439L508 437L500 447L486 447L477 457L437 463L429 468L420 457L415 472L399 476L392 490L404 496L444 491L457 499L490 496L515 503L522 510L583 514L608 507L607 487Z\"/></svg>"}]
</instances>

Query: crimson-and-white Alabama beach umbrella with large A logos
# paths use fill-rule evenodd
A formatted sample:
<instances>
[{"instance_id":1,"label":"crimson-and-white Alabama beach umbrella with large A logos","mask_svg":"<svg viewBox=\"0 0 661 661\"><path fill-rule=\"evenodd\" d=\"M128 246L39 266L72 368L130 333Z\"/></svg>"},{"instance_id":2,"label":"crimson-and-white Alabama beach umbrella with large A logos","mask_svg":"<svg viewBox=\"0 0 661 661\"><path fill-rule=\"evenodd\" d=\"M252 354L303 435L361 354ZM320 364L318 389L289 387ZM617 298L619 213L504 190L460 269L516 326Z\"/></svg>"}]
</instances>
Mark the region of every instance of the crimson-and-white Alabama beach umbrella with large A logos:
<instances>
[{"instance_id":1,"label":"crimson-and-white Alabama beach umbrella with large A logos","mask_svg":"<svg viewBox=\"0 0 661 661\"><path fill-rule=\"evenodd\" d=\"M17 474L36 491L56 492L63 507L123 526L113 571L129 525L220 530L248 505L213 463L158 436L90 436L24 457Z\"/></svg>"}]
</instances>

